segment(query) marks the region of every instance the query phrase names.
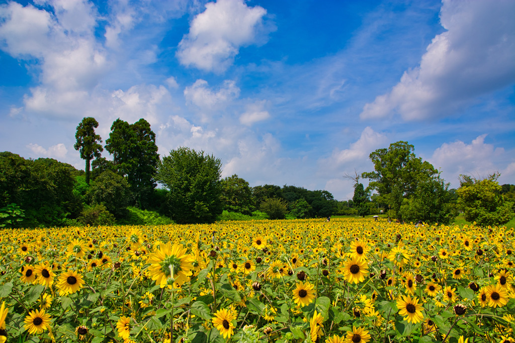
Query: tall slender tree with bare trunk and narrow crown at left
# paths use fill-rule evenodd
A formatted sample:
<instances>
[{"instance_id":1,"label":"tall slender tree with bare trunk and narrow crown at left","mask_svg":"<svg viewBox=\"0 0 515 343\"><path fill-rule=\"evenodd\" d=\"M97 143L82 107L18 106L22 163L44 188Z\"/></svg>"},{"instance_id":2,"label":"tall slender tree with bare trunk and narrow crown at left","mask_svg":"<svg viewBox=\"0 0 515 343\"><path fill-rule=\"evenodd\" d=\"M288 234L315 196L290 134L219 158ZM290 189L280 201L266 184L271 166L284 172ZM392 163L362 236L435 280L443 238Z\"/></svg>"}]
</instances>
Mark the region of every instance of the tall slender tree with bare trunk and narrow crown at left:
<instances>
[{"instance_id":1,"label":"tall slender tree with bare trunk and narrow crown at left","mask_svg":"<svg viewBox=\"0 0 515 343\"><path fill-rule=\"evenodd\" d=\"M86 160L86 183L90 184L90 164L93 157L100 157L100 153L104 148L99 144L102 139L99 135L95 134L95 129L98 128L98 122L95 118L85 117L79 123L75 138L77 142L74 145L75 150L80 152L80 158Z\"/></svg>"}]
</instances>

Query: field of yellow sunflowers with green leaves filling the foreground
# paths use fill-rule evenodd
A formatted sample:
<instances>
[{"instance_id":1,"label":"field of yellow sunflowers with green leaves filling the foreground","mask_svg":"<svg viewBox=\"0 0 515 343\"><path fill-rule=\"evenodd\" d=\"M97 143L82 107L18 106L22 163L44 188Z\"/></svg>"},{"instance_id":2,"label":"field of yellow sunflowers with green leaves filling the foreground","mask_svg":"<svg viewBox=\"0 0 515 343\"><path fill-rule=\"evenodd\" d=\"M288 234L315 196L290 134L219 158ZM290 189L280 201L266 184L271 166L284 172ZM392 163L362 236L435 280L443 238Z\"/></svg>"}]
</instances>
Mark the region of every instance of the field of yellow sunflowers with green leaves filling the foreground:
<instances>
[{"instance_id":1,"label":"field of yellow sunflowers with green leaves filling the foreground","mask_svg":"<svg viewBox=\"0 0 515 343\"><path fill-rule=\"evenodd\" d=\"M0 343L513 342L513 228L0 231Z\"/></svg>"}]
</instances>

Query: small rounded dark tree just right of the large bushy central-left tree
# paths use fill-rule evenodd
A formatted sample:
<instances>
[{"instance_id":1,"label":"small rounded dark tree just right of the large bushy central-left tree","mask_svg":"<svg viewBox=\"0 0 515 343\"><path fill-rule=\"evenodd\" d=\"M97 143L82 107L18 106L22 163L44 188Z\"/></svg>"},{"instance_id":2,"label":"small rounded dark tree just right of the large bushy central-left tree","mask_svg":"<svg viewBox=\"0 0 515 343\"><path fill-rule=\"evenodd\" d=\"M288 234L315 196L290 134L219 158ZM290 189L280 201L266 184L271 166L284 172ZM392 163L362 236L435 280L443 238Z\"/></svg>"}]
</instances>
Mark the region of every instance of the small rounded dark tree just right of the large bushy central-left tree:
<instances>
[{"instance_id":1,"label":"small rounded dark tree just right of the large bushy central-left tree","mask_svg":"<svg viewBox=\"0 0 515 343\"><path fill-rule=\"evenodd\" d=\"M221 202L229 212L250 215L254 210L254 199L249 183L234 174L221 180Z\"/></svg>"}]
</instances>

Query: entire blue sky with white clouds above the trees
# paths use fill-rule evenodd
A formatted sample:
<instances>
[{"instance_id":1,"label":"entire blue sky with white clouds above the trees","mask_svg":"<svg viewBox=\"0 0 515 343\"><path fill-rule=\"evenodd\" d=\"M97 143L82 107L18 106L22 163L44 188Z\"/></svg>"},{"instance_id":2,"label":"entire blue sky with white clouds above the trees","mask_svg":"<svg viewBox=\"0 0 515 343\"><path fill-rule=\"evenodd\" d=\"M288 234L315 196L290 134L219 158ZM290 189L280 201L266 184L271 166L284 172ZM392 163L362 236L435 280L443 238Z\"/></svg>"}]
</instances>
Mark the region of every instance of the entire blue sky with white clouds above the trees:
<instances>
[{"instance_id":1,"label":"entire blue sky with white clouds above the trees","mask_svg":"<svg viewBox=\"0 0 515 343\"><path fill-rule=\"evenodd\" d=\"M0 5L0 151L77 168L75 129L145 118L223 176L352 197L405 140L457 187L515 184L515 2L71 1ZM104 153L109 158L107 152Z\"/></svg>"}]
</instances>

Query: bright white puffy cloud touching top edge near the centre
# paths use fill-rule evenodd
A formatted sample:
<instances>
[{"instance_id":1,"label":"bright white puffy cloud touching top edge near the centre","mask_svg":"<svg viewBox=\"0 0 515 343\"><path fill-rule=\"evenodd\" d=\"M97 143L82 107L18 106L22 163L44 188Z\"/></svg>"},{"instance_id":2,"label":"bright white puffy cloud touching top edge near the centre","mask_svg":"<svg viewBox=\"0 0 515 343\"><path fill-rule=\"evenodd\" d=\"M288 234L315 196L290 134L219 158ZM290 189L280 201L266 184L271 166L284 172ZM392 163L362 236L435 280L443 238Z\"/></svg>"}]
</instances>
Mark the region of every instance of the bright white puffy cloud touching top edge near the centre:
<instances>
[{"instance_id":1,"label":"bright white puffy cloud touching top edge near the centre","mask_svg":"<svg viewBox=\"0 0 515 343\"><path fill-rule=\"evenodd\" d=\"M179 43L181 64L206 71L225 71L239 48L261 43L265 37L260 6L248 7L243 0L218 0L205 5Z\"/></svg>"}]
</instances>

